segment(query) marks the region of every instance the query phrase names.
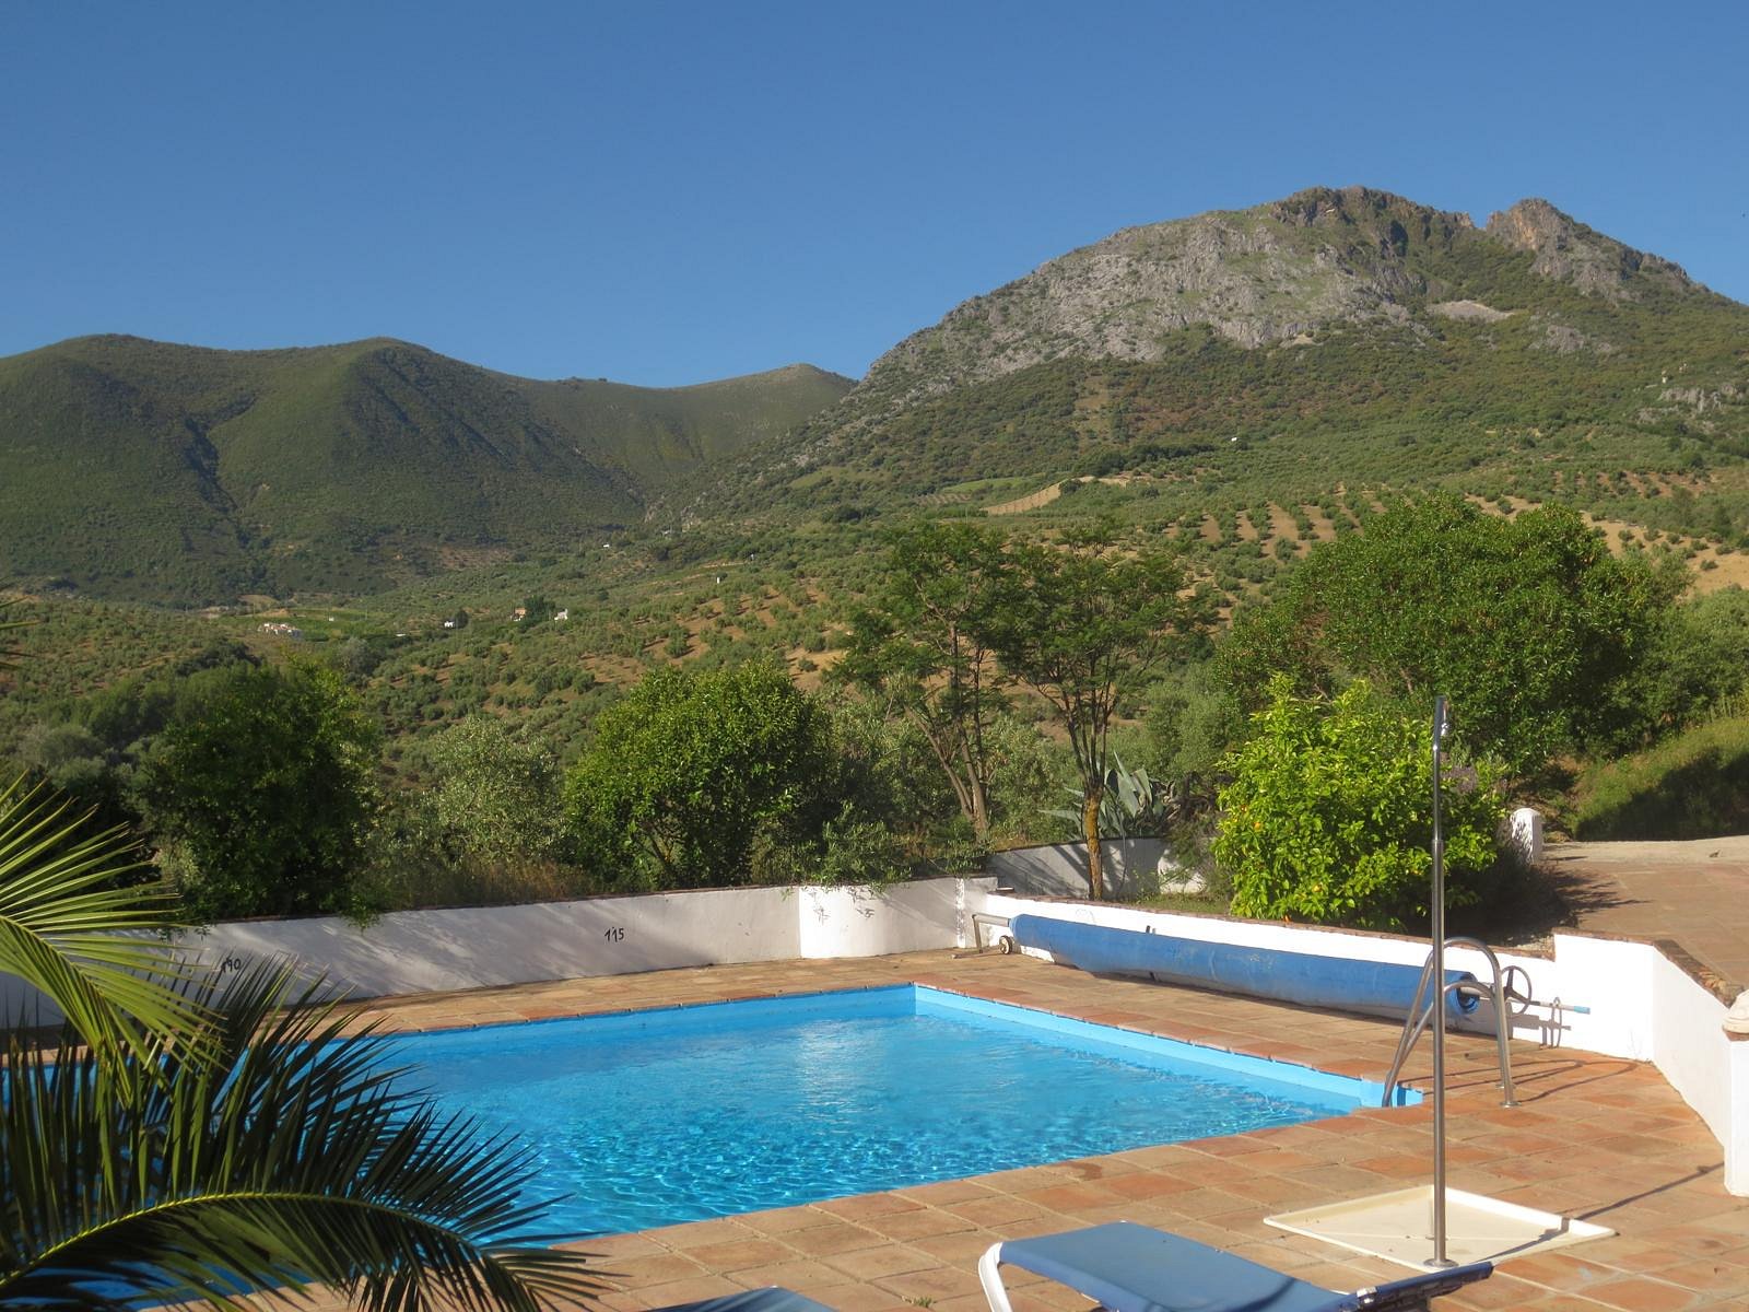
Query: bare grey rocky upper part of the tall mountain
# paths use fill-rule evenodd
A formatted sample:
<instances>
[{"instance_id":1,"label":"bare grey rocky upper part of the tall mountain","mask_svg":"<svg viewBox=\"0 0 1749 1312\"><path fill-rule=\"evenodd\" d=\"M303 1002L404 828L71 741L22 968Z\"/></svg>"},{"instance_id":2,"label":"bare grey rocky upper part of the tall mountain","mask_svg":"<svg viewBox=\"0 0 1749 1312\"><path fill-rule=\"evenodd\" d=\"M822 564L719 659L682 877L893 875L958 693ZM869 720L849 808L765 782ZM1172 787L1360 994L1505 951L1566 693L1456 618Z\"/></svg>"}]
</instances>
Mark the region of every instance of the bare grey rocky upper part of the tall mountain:
<instances>
[{"instance_id":1,"label":"bare grey rocky upper part of the tall mountain","mask_svg":"<svg viewBox=\"0 0 1749 1312\"><path fill-rule=\"evenodd\" d=\"M892 404L1063 357L1158 360L1172 334L1205 327L1245 348L1315 345L1336 325L1427 334L1436 320L1494 324L1529 306L1462 296L1466 250L1504 243L1530 271L1588 296L1693 289L1676 264L1632 250L1527 199L1487 229L1368 187L1312 187L1251 210L1126 227L972 297L874 362L868 399ZM1551 325L1555 352L1611 350Z\"/></svg>"}]
</instances>

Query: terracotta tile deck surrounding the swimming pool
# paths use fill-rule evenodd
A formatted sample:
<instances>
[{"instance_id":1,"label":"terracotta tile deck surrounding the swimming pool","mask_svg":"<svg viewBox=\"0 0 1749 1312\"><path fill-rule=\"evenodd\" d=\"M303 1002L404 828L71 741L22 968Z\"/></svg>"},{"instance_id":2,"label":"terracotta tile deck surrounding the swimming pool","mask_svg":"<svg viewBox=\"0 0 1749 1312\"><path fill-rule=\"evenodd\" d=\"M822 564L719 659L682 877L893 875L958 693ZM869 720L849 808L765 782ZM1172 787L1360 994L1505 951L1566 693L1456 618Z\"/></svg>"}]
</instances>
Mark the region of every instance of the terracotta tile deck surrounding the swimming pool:
<instances>
[{"instance_id":1,"label":"terracotta tile deck surrounding the swimming pool","mask_svg":"<svg viewBox=\"0 0 1749 1312\"><path fill-rule=\"evenodd\" d=\"M740 997L925 983L1338 1074L1382 1079L1399 1025L1142 981L1027 957L929 952L719 966L394 999L387 1029L448 1029ZM1749 1198L1723 1188L1723 1149L1651 1065L1513 1044L1518 1107L1501 1107L1494 1041L1448 1044L1448 1183L1616 1230L1508 1260L1446 1309L1749 1307ZM1425 1043L1410 1079L1427 1086ZM582 1240L612 1312L784 1284L840 1312L981 1312L976 1263L997 1239L1130 1219L1244 1253L1329 1288L1399 1279L1392 1263L1263 1225L1277 1211L1425 1184L1431 1104L1188 1144L1055 1162L806 1207ZM1016 1127L1023 1134L1025 1127ZM1025 1279L1021 1275L1021 1279ZM1014 1312L1086 1300L1014 1284Z\"/></svg>"}]
</instances>

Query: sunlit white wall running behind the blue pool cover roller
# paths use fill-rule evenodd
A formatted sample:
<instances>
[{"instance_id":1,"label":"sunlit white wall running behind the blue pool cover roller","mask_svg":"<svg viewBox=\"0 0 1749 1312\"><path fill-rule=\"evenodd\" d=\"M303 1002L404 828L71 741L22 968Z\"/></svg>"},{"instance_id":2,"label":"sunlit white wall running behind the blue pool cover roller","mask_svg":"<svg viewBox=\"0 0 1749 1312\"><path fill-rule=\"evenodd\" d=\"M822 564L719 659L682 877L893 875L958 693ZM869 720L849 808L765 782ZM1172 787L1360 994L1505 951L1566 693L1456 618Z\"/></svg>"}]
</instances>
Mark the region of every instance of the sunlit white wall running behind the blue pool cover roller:
<instances>
[{"instance_id":1,"label":"sunlit white wall running behind the blue pool cover roller","mask_svg":"<svg viewBox=\"0 0 1749 1312\"><path fill-rule=\"evenodd\" d=\"M1348 960L1415 967L1427 962L1427 943L1406 938L1041 901L981 889L974 889L967 899L967 911L997 917L1027 913L1111 929L1140 931L1151 925L1156 934L1205 943ZM983 931L986 943L993 932ZM1516 966L1525 973L1529 983L1522 980L1520 992L1541 1002L1560 999L1567 1006L1590 1008L1588 1015L1530 1008L1511 1018L1513 1037L1653 1062L1725 1148L1725 1188L1735 1195L1749 1195L1749 1039L1733 1039L1725 1032L1725 1002L1649 943L1555 934L1553 957L1513 952L1495 955L1501 967ZM1488 974L1487 959L1469 948L1452 948L1446 969L1473 971L1483 980ZM1492 1034L1492 1006L1483 1002L1476 1008L1464 1018L1462 1029Z\"/></svg>"}]
</instances>

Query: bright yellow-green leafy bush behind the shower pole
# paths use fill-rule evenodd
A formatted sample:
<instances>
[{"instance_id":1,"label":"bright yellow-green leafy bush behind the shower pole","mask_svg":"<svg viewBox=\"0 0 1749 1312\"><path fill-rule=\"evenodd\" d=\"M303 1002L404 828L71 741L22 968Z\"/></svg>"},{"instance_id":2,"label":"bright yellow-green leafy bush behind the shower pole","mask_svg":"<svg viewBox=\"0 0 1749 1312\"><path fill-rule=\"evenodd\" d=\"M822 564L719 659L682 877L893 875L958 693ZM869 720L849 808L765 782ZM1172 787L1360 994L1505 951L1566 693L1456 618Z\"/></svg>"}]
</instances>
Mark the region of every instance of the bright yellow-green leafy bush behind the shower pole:
<instances>
[{"instance_id":1,"label":"bright yellow-green leafy bush behind the shower pole","mask_svg":"<svg viewBox=\"0 0 1749 1312\"><path fill-rule=\"evenodd\" d=\"M1380 705L1366 680L1327 700L1277 679L1252 736L1224 761L1233 782L1221 789L1214 855L1231 871L1233 911L1362 929L1424 920L1431 764L1431 722ZM1476 878L1497 855L1494 784L1481 761L1452 770L1443 789L1452 906L1480 899Z\"/></svg>"}]
</instances>

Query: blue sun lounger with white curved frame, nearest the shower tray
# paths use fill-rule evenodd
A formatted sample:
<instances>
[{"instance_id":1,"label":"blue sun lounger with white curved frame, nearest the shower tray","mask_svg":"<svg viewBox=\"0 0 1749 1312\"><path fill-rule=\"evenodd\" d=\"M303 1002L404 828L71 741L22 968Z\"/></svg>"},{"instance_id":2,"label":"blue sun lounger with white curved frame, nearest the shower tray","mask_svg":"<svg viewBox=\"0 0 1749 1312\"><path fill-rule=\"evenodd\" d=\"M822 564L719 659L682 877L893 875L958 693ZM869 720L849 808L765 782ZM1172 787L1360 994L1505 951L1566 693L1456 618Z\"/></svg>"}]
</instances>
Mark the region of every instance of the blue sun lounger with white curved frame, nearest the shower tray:
<instances>
[{"instance_id":1,"label":"blue sun lounger with white curved frame, nearest the shower tray","mask_svg":"<svg viewBox=\"0 0 1749 1312\"><path fill-rule=\"evenodd\" d=\"M1397 1312L1494 1270L1478 1261L1345 1295L1181 1235L1112 1221L992 1244L978 1263L990 1312L1013 1312L999 1270L1004 1265L1067 1284L1111 1312Z\"/></svg>"}]
</instances>

